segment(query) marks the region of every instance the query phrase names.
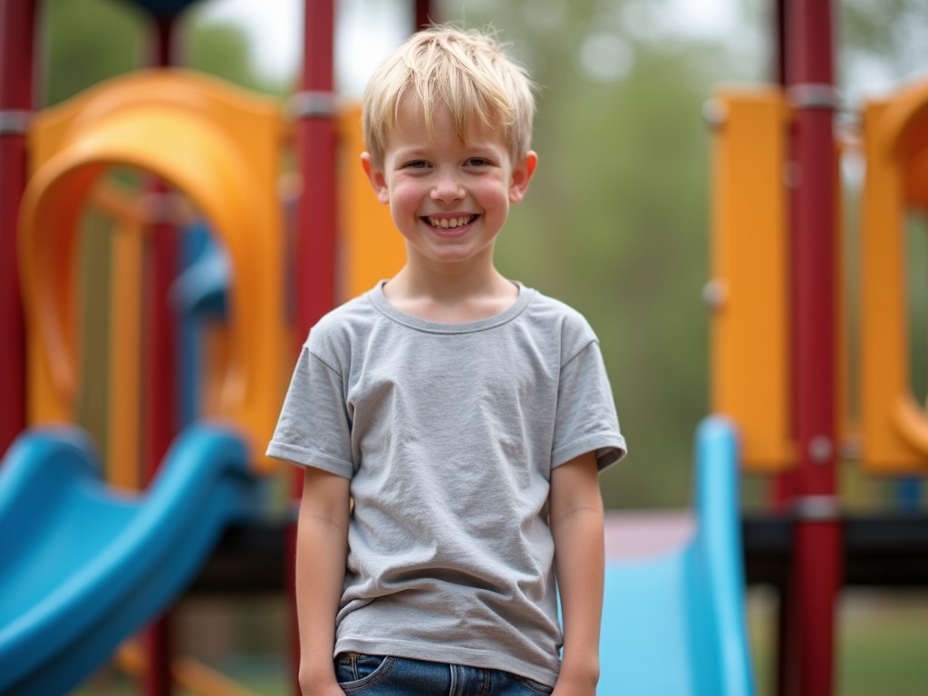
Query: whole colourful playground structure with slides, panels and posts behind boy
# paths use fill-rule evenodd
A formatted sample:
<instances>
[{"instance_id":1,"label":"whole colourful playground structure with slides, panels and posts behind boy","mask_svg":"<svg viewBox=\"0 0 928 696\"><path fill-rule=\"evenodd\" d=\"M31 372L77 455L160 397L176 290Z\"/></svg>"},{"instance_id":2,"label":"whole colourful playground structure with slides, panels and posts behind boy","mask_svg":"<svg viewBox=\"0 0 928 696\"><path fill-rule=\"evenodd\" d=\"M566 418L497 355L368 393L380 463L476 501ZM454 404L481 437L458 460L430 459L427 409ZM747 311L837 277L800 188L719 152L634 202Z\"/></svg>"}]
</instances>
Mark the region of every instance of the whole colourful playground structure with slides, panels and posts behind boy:
<instances>
[{"instance_id":1,"label":"whole colourful playground structure with slides, panels and posts behind boy","mask_svg":"<svg viewBox=\"0 0 928 696\"><path fill-rule=\"evenodd\" d=\"M5 10L0 31L9 37L0 50L7 58L31 55L31 47L21 43L32 35L33 3L0 2ZM140 4L154 12L163 41L170 19L191 3ZM389 223L380 222L386 214L382 208L357 204L373 199L355 196L367 194L367 182L354 162L344 168L354 178L340 177L336 186L335 159L341 152L356 161L360 146L356 113L340 113L334 106L332 6L331 0L306 2L305 14L315 21L306 25L306 70L293 100L303 188L291 247L285 247L277 199L276 158L287 128L273 102L184 71L141 71L38 114L27 128L17 116L31 108L19 74L23 62L2 61L0 155L5 159L0 166L5 175L12 173L12 183L0 196L7 200L15 193L15 205L12 217L9 205L0 209L0 229L15 228L19 216L21 233L18 241L0 239L5 249L15 246L19 258L18 266L4 266L0 273L5 283L0 329L7 337L0 370L14 393L17 376L28 375L22 398L7 399L0 411L0 432L10 433L0 446L6 448L22 433L0 469L0 556L11 560L0 569L4 693L70 688L122 638L167 610L198 573L211 573L213 545L229 524L269 531L264 539L270 539L279 571L263 590L281 591L291 574L284 561L292 556L284 543L290 525L268 526L256 519L252 499L257 476L269 472L260 451L289 373L287 344L298 345L337 298L367 290L377 278L391 275L402 258L398 239L383 247L390 236L363 236L362 230ZM850 538L854 527L840 516L833 481L845 426L839 427L834 416L844 398L835 369L844 357L835 347L834 96L830 64L821 64L828 62L821 53L827 58L831 51L822 39L830 33L830 14L828 3L794 3L789 10L790 29L783 33L792 38L783 45L818 46L817 53L804 54L812 64L800 65L780 86L725 90L714 100L715 264L706 297L715 312L712 410L726 418L707 419L697 435L692 535L656 556L608 561L600 689L605 694L753 692L739 464L777 476L780 485L774 522L791 555L789 569L783 570L789 580L780 585L781 631L788 648L781 655L780 692L827 696L833 691L833 605L841 583L837 557L842 530ZM418 2L419 25L429 16L429 3ZM865 114L864 280L869 290L860 392L862 443L871 470L923 471L926 461L924 418L907 384L909 356L897 294L904 252L899 239L885 232L902 226L906 205L924 207L928 198L920 184L928 144L926 105L928 94L913 87L871 105ZM21 159L27 134L28 186ZM177 152L183 152L182 161L174 157ZM114 467L112 459L138 458L133 440L142 439L142 428L135 436L126 433L134 432L132 424L138 426L137 414L144 410L137 403L146 391L137 377L144 370L132 357L141 335L133 320L142 295L135 277L139 239L151 234L143 231L151 221L144 205L100 182L99 174L112 165L170 182L209 221L229 261L228 276L216 275L221 269L206 264L200 273L212 269L211 277L191 271L171 282L174 299L187 308L220 293L227 303L227 362L214 380L220 385L215 406L207 410L231 430L195 424L168 455L159 456L161 473L145 493L127 492L145 483L137 473L100 483L84 435L70 428L27 430L49 420L73 422L75 394L85 386L69 293L74 230L92 200L120 221L113 235L115 277L129 289L112 301L110 369L119 378L110 380L116 425L103 449L110 470L122 467ZM339 218L343 229L337 240ZM337 262L339 245L348 250L341 254L343 264ZM301 273L286 270L285 248L290 258L301 258L302 266L305 260ZM16 316L20 284L24 328ZM295 320L288 324L290 299ZM28 350L17 349L18 343ZM175 381L170 371L165 374L159 373L159 382ZM174 419L173 413L155 411L148 418ZM165 426L172 437L175 422ZM747 561L753 529L748 520ZM220 556L239 553L246 563L253 558L252 548L230 551L219 544ZM67 553L59 552L61 545ZM151 561L159 562L145 565L149 552ZM212 578L226 586L238 581ZM151 651L148 661L148 691L167 692L170 687L159 677L166 669L164 655Z\"/></svg>"}]
</instances>

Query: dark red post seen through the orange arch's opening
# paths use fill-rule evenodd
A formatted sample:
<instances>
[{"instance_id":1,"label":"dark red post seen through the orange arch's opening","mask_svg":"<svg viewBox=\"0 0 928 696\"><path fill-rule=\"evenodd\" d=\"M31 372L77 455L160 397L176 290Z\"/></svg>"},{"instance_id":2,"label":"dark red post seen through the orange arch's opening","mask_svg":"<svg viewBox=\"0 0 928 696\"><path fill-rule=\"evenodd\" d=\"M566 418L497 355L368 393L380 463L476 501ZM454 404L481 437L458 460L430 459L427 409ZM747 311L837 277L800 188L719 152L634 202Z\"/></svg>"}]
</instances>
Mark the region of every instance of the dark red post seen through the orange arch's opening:
<instances>
[{"instance_id":1,"label":"dark red post seen through the orange arch's opening","mask_svg":"<svg viewBox=\"0 0 928 696\"><path fill-rule=\"evenodd\" d=\"M173 18L154 18L151 32L151 64L168 67L173 62ZM177 275L177 234L163 204L167 188L161 182L148 187L155 202L156 219L149 227L150 257L148 277L148 375L143 398L146 400L148 432L144 445L143 480L150 483L161 466L177 434L177 358L176 317L168 303L168 291ZM171 614L166 612L145 633L148 650L146 696L169 696L174 690L171 677L173 646Z\"/></svg>"}]
</instances>

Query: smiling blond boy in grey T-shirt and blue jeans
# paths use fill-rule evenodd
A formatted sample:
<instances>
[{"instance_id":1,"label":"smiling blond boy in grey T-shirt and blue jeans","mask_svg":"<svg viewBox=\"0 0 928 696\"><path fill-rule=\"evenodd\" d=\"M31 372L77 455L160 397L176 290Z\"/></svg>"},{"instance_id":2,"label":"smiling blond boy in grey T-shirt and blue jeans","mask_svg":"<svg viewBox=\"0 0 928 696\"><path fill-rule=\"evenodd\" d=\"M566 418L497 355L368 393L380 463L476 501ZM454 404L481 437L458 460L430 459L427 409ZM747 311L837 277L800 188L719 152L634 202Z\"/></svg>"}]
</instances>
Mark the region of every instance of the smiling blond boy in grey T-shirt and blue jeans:
<instances>
[{"instance_id":1,"label":"smiling blond boy in grey T-shirt and blue jeans","mask_svg":"<svg viewBox=\"0 0 928 696\"><path fill-rule=\"evenodd\" d=\"M596 691L598 474L625 440L586 320L493 260L534 110L478 32L419 32L367 86L406 264L312 329L267 450L305 468L304 694Z\"/></svg>"}]
</instances>

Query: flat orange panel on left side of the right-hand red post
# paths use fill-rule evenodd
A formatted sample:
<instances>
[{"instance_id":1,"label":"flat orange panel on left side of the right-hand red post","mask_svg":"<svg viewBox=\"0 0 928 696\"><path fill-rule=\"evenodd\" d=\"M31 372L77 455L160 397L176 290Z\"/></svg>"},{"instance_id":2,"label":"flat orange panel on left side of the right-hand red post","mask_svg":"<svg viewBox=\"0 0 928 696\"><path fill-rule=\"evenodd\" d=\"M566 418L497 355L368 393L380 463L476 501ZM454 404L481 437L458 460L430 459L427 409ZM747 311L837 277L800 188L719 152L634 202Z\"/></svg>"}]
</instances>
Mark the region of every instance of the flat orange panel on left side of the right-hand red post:
<instances>
[{"instance_id":1,"label":"flat orange panel on left side of the right-hand red post","mask_svg":"<svg viewBox=\"0 0 928 696\"><path fill-rule=\"evenodd\" d=\"M793 462L786 191L789 112L778 88L716 95L712 410L741 432L749 469Z\"/></svg>"}]
</instances>

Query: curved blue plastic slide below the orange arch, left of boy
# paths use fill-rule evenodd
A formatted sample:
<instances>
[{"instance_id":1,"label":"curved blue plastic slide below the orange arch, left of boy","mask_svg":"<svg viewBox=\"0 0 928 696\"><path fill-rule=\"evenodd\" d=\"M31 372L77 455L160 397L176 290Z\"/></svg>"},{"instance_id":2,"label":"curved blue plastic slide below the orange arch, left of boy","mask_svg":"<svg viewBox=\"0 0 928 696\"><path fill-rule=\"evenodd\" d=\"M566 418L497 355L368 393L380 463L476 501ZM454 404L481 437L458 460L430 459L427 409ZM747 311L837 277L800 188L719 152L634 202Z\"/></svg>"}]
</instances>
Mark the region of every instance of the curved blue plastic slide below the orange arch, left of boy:
<instances>
[{"instance_id":1,"label":"curved blue plastic slide below the orange arch, left of boy","mask_svg":"<svg viewBox=\"0 0 928 696\"><path fill-rule=\"evenodd\" d=\"M0 465L0 693L78 685L195 577L251 509L238 436L195 426L148 492L100 481L76 429L27 432Z\"/></svg>"}]
</instances>

